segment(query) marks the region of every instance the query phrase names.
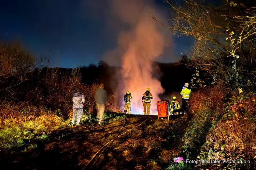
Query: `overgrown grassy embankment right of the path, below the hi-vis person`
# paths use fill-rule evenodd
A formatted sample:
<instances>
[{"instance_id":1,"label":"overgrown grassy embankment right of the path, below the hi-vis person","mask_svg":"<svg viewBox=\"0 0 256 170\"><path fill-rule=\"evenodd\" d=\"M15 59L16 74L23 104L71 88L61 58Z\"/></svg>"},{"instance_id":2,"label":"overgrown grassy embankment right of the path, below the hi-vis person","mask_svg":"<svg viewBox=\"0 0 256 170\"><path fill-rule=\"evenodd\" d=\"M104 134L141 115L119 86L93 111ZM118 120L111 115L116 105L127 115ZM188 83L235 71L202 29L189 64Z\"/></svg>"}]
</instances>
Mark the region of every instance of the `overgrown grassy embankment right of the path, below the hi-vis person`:
<instances>
[{"instance_id":1,"label":"overgrown grassy embankment right of the path, below the hi-vis person","mask_svg":"<svg viewBox=\"0 0 256 170\"><path fill-rule=\"evenodd\" d=\"M221 160L220 164L173 163L167 169L254 169L256 156L256 96L253 92L224 98L215 87L191 95L191 120L180 126L179 155L189 160ZM177 124L174 123L173 126ZM237 160L250 160L250 164ZM236 160L224 164L223 160Z\"/></svg>"}]
</instances>

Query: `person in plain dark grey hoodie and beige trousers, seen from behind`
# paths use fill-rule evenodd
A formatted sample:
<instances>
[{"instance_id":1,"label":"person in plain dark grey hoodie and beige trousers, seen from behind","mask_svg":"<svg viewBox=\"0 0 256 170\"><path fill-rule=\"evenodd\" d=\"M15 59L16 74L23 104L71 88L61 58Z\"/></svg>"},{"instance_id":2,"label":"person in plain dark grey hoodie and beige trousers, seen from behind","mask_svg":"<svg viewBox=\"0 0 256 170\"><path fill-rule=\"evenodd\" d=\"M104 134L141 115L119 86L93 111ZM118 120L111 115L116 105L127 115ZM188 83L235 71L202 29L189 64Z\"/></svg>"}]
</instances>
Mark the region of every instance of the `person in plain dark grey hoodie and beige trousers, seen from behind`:
<instances>
[{"instance_id":1,"label":"person in plain dark grey hoodie and beige trousers, seen from behind","mask_svg":"<svg viewBox=\"0 0 256 170\"><path fill-rule=\"evenodd\" d=\"M95 102L97 105L97 119L99 121L99 124L103 121L103 114L105 111L105 104L108 103L108 95L106 90L104 90L104 84L100 84L100 87L98 88L96 95L95 95Z\"/></svg>"}]
</instances>

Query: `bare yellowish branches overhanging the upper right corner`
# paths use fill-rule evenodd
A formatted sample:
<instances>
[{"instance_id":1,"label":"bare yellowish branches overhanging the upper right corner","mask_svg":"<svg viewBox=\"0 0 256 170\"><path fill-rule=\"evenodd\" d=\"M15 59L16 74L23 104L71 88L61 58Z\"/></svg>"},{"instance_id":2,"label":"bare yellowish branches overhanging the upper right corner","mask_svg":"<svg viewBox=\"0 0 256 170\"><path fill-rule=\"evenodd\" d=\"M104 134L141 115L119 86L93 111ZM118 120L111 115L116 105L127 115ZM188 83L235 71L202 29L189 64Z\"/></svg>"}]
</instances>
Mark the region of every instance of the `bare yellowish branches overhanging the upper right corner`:
<instances>
[{"instance_id":1,"label":"bare yellowish branches overhanging the upper right corner","mask_svg":"<svg viewBox=\"0 0 256 170\"><path fill-rule=\"evenodd\" d=\"M204 1L185 0L182 5L166 1L174 11L168 26L173 34L195 38L186 64L206 70L225 94L254 90L255 7L231 1L218 7Z\"/></svg>"}]
</instances>

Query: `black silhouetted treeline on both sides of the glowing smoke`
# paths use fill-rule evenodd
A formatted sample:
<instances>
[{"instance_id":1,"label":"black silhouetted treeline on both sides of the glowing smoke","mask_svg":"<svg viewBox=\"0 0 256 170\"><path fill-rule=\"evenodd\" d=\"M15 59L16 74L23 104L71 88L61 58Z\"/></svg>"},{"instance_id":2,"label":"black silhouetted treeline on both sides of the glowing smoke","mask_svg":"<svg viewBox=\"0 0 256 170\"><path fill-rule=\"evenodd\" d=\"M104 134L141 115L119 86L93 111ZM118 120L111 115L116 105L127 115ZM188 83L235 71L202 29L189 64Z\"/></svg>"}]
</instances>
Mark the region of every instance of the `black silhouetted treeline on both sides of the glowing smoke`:
<instances>
[{"instance_id":1,"label":"black silhouetted treeline on both sides of the glowing smoke","mask_svg":"<svg viewBox=\"0 0 256 170\"><path fill-rule=\"evenodd\" d=\"M91 64L80 67L82 83L88 85L93 84L95 81L104 83L106 90L112 93L112 89L115 88L113 84L116 87L118 85L118 82L113 82L117 78L113 79L113 77L118 72L120 73L120 70L120 67L112 67L102 61L98 66ZM165 93L180 91L186 82L190 82L192 74L193 70L179 63L153 63L152 75L160 80L162 87L165 88Z\"/></svg>"}]
</instances>

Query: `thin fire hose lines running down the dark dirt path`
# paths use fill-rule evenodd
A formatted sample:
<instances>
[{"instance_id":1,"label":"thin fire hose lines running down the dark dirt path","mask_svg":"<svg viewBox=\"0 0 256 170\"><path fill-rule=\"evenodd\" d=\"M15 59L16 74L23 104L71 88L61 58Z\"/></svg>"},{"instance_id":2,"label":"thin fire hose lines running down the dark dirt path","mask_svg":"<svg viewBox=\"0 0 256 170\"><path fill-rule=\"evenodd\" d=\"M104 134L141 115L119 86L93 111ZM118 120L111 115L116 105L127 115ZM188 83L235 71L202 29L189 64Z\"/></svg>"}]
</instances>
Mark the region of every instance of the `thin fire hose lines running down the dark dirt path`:
<instances>
[{"instance_id":1,"label":"thin fire hose lines running down the dark dirt path","mask_svg":"<svg viewBox=\"0 0 256 170\"><path fill-rule=\"evenodd\" d=\"M119 138L120 136L122 136L122 135L126 134L127 132L131 131L132 129L139 127L140 125L142 125L145 121L147 121L147 120L148 120L149 118L151 118L151 117L149 117L149 118L147 118L146 120L144 120L144 121L143 121L141 124L139 124L138 126L135 126L135 127L131 128L130 130L127 130L126 132L124 132L124 133L122 133L121 135L119 135L119 134L121 133L121 131L123 130L125 124L126 124L127 118L128 118L128 115L127 115L127 117L126 117L126 119L125 119L124 125L122 126L122 128L120 129L120 131L118 132L118 134L115 136L115 138L112 139L112 140L110 140L110 141L109 141L108 143L106 143L103 147L101 147L101 148L98 150L98 152L96 152L96 154L91 158L91 160L86 164L86 166L85 166L82 170L86 169L86 168L89 166L89 164L94 160L94 158L97 156L97 154L100 153L99 156L98 156L98 158L97 158L97 160L96 160L96 162L91 166L91 167L93 167L93 166L98 162L98 160L99 160L101 154L105 151L105 149L106 149L109 145L111 145L111 144L113 143L113 141L114 141L116 138ZM103 149L103 148L104 148L104 149ZM103 149L103 150L102 150L102 149ZM101 151L101 150L102 150L102 151ZM101 152L100 152L100 151L101 151Z\"/></svg>"}]
</instances>

